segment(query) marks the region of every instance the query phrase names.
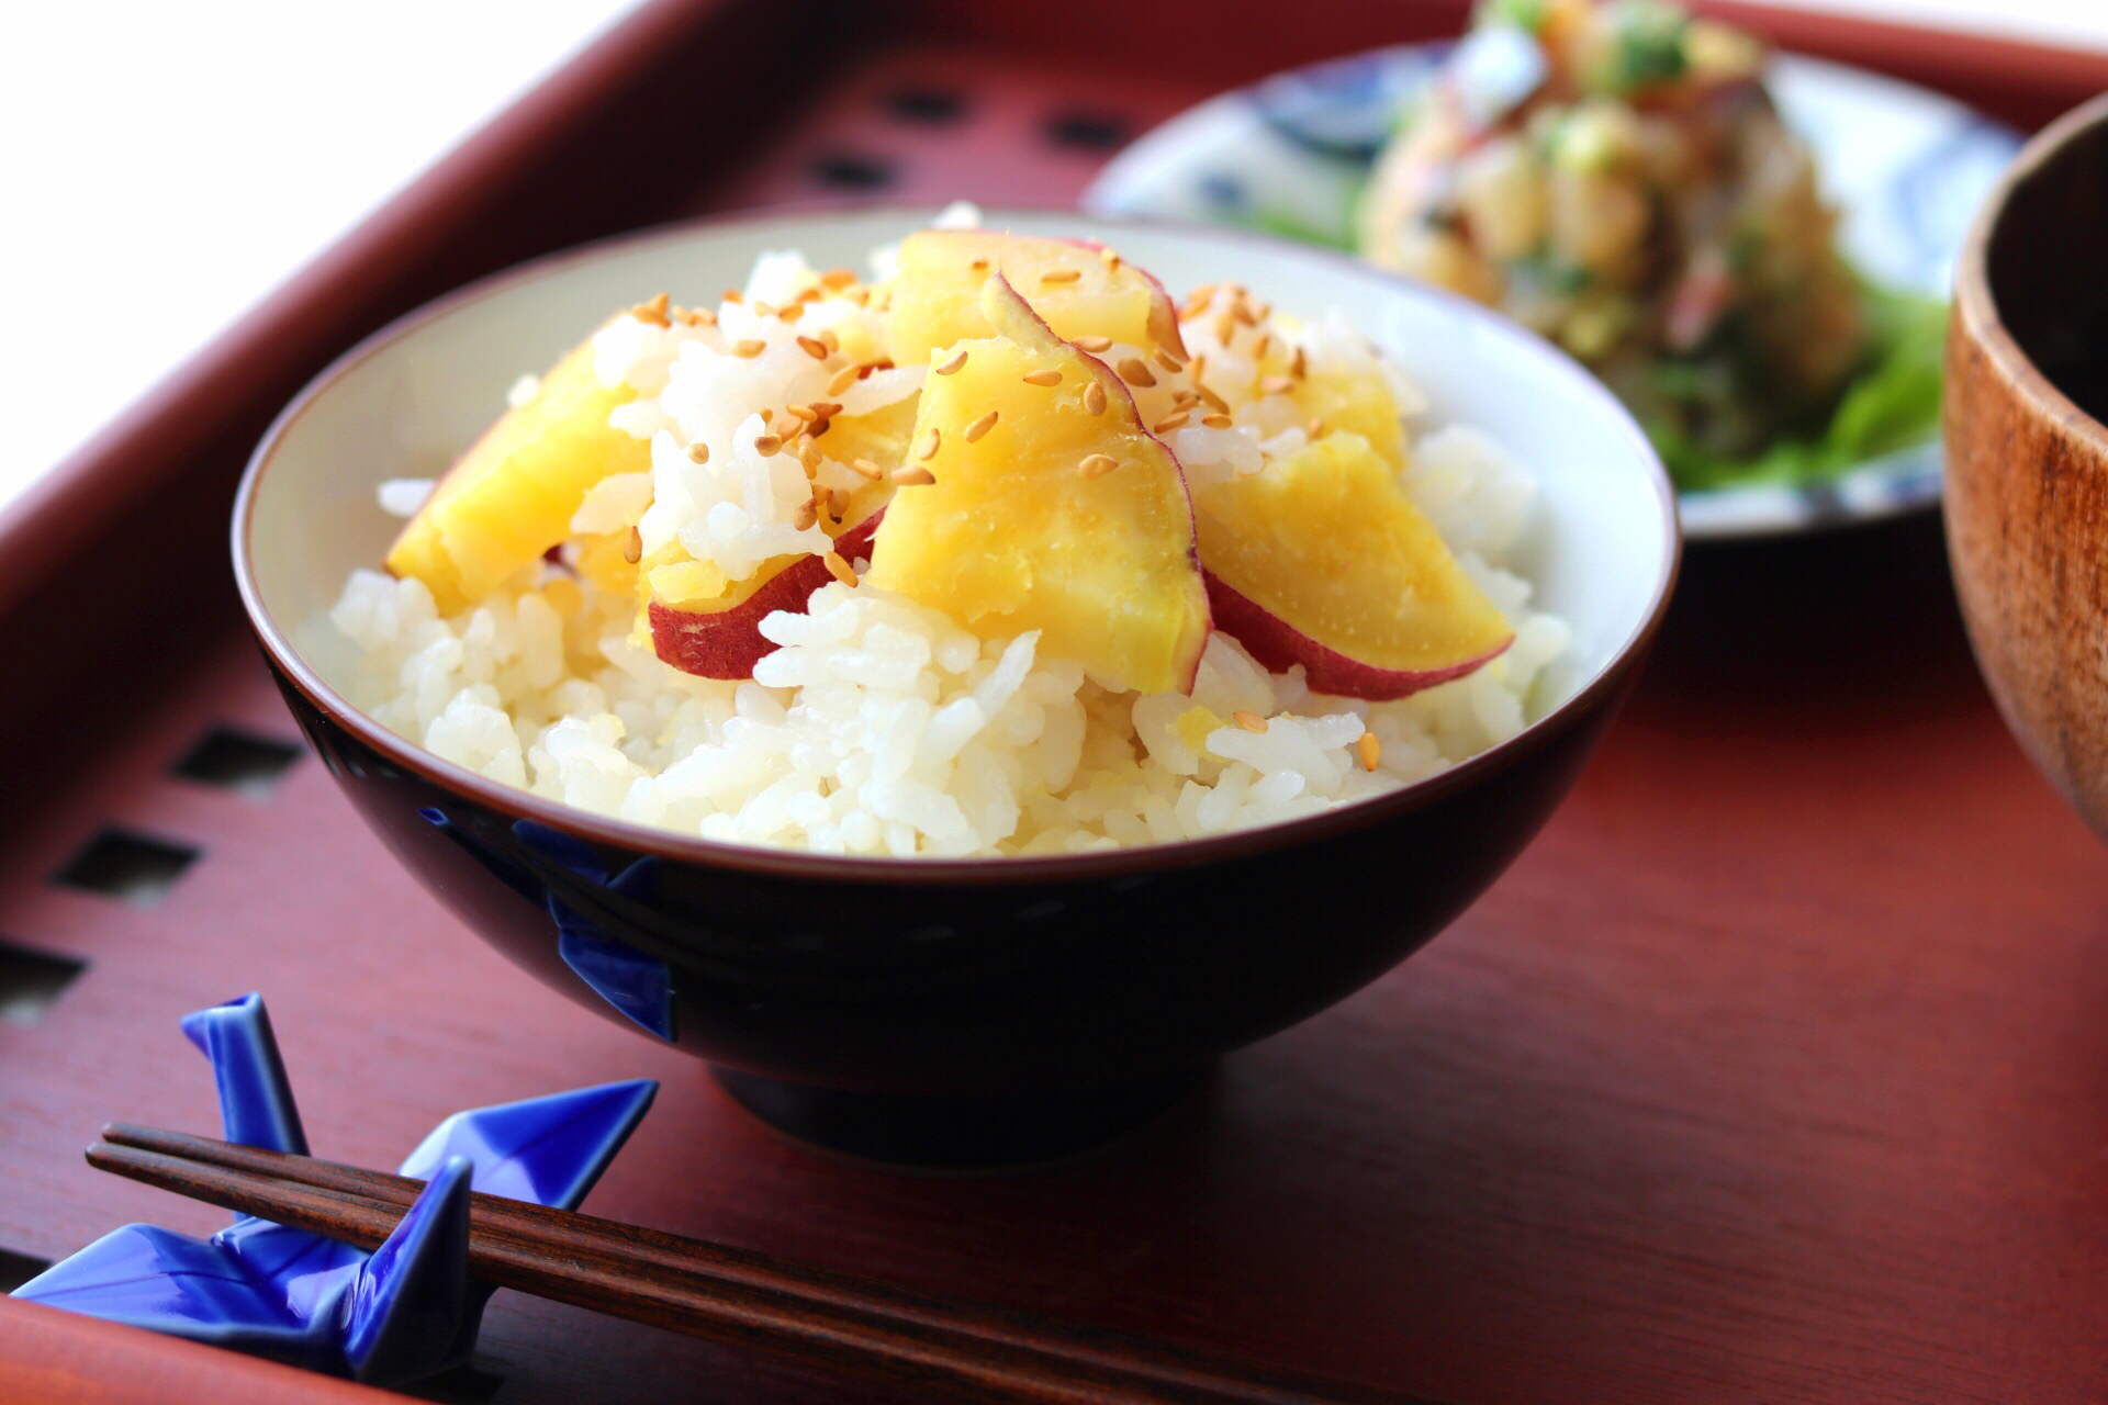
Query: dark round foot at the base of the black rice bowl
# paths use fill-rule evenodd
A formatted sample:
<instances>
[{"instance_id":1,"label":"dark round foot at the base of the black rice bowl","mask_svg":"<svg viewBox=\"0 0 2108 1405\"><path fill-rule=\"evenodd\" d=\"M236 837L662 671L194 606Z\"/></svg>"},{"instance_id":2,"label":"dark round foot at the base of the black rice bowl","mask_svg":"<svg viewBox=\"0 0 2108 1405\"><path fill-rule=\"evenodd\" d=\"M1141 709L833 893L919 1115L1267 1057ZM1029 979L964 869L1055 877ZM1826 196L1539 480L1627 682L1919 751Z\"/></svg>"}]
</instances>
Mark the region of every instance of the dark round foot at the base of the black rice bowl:
<instances>
[{"instance_id":1,"label":"dark round foot at the base of the black rice bowl","mask_svg":"<svg viewBox=\"0 0 2108 1405\"><path fill-rule=\"evenodd\" d=\"M860 1093L710 1066L772 1129L841 1156L921 1171L1008 1171L1090 1150L1170 1110L1206 1064L1140 1083L1001 1097Z\"/></svg>"}]
</instances>

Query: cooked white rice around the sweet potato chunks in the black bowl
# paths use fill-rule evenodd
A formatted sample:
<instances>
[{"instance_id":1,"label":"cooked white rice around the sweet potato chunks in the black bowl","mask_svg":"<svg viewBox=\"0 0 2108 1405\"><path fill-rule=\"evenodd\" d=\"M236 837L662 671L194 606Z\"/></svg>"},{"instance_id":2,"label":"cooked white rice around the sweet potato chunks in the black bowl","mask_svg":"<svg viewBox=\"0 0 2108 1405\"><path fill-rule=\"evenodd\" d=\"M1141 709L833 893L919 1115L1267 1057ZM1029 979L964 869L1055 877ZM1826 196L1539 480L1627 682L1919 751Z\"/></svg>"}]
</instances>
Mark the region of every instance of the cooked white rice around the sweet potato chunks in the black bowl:
<instances>
[{"instance_id":1,"label":"cooked white rice around the sweet potato chunks in the black bowl","mask_svg":"<svg viewBox=\"0 0 2108 1405\"><path fill-rule=\"evenodd\" d=\"M795 255L769 255L753 291L765 295L803 268ZM790 455L740 449L759 430L750 407L816 396L801 383L816 362L795 337L845 312L812 308L782 322L742 318L727 303L717 329L622 320L603 333L601 377L643 392L616 423L653 440L653 468L607 480L573 527L620 529L649 501L647 550L679 535L734 575L782 552L826 550L816 529L793 525L807 487ZM727 337L761 337L769 350L727 356ZM1313 364L1370 354L1339 318L1299 337ZM1210 364L1233 358L1193 350L1210 352ZM919 375L875 373L852 394L875 407L911 394ZM1395 375L1393 388L1417 413L1412 388ZM1170 442L1195 480L1256 472L1303 436L1267 413L1240 404L1235 428L1176 430ZM710 444L706 466L689 459L694 440ZM822 466L835 470L847 474ZM1507 613L1516 642L1465 678L1387 704L1315 695L1301 668L1267 674L1221 632L1191 697L1113 693L1079 666L1041 657L1035 634L984 642L871 586L828 583L805 615L769 615L761 630L782 647L750 682L660 664L632 638L630 598L597 598L554 567L445 619L419 581L358 571L329 624L358 651L344 680L352 701L384 725L470 771L601 815L824 853L1170 843L1393 790L1533 716L1539 674L1568 647L1568 628L1533 611L1528 581L1503 569L1528 520L1533 478L1484 434L1438 428L1417 438L1404 484ZM394 480L384 501L415 510L419 484ZM1237 712L1269 718L1265 731L1231 723ZM1374 771L1355 754L1364 731L1381 744Z\"/></svg>"}]
</instances>

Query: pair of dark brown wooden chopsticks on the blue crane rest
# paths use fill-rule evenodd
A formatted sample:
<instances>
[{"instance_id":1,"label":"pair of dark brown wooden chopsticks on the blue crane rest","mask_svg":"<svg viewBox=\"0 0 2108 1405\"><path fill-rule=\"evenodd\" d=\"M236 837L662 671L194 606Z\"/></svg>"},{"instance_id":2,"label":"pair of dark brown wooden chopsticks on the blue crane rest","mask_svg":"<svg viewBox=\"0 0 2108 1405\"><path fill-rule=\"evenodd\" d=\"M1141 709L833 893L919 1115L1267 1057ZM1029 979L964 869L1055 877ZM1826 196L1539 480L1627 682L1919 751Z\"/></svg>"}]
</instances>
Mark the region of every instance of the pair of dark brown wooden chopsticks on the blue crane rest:
<instances>
[{"instance_id":1,"label":"pair of dark brown wooden chopsticks on the blue crane rest","mask_svg":"<svg viewBox=\"0 0 2108 1405\"><path fill-rule=\"evenodd\" d=\"M89 1165L365 1249L424 1190L403 1175L124 1123L103 1127ZM468 1264L476 1279L535 1298L955 1399L1410 1405L491 1194L470 1196Z\"/></svg>"}]
</instances>

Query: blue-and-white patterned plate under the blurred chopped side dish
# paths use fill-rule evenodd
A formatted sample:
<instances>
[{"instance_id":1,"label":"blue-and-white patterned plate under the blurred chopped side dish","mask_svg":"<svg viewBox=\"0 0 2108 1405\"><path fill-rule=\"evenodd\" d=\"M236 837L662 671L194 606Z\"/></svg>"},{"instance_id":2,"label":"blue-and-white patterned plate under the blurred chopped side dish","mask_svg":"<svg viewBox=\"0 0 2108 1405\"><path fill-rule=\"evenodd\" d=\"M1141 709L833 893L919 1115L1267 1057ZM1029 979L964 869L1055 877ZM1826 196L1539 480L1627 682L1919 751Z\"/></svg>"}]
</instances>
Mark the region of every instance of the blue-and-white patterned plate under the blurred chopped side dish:
<instances>
[{"instance_id":1,"label":"blue-and-white patterned plate under the blurred chopped side dish","mask_svg":"<svg viewBox=\"0 0 2108 1405\"><path fill-rule=\"evenodd\" d=\"M1448 48L1377 48L1212 97L1113 158L1084 206L1351 244L1370 162ZM1775 59L1771 88L1844 213L1844 253L1876 282L1946 297L1969 217L2019 137L1937 93L1817 59ZM1684 493L1682 518L1691 537L1758 537L1935 501L1939 444L1927 442L1828 482Z\"/></svg>"}]
</instances>

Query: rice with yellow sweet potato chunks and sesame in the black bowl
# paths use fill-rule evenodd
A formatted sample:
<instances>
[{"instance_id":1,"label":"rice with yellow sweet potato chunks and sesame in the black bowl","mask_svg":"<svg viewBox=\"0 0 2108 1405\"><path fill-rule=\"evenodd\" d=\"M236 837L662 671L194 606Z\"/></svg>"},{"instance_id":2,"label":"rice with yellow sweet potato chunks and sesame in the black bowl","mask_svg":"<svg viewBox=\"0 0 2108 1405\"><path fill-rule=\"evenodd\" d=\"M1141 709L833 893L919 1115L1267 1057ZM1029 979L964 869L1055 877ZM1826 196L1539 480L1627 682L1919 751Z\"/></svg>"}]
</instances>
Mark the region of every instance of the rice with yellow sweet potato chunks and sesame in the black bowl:
<instances>
[{"instance_id":1,"label":"rice with yellow sweet potato chunks and sesame in the black bowl","mask_svg":"<svg viewBox=\"0 0 2108 1405\"><path fill-rule=\"evenodd\" d=\"M1533 718L1533 478L1339 312L999 230L873 263L622 310L384 484L354 701L573 807L873 855L1292 819Z\"/></svg>"}]
</instances>

